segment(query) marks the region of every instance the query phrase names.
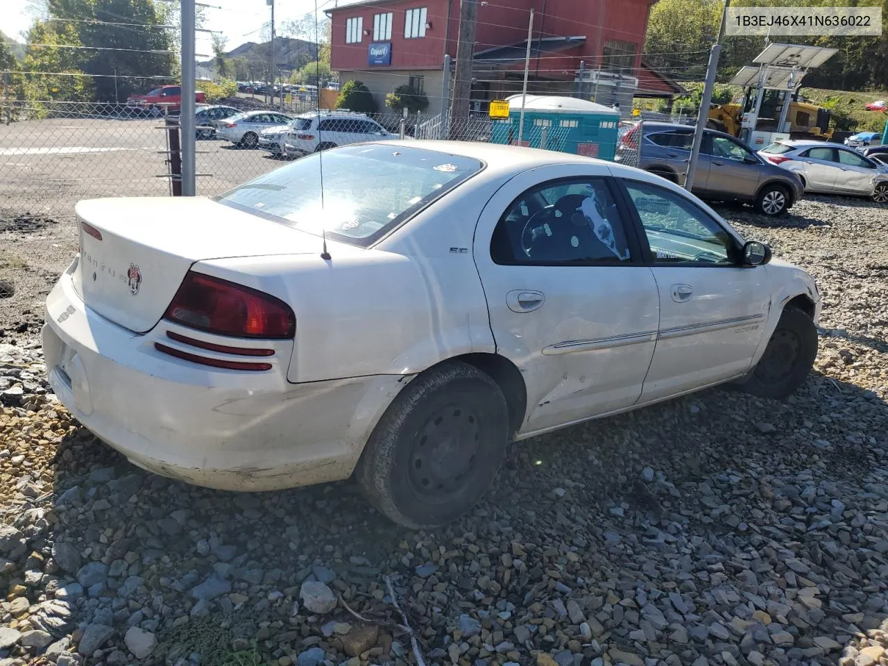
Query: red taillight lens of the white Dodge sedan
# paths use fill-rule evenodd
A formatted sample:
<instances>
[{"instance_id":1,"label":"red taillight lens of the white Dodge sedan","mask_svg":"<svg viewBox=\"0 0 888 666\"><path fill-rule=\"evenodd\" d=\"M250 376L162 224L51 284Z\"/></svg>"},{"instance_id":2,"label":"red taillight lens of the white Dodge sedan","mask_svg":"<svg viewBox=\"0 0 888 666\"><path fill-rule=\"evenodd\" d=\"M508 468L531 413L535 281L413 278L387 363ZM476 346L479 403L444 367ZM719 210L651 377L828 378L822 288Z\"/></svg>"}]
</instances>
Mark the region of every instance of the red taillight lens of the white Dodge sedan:
<instances>
[{"instance_id":1,"label":"red taillight lens of the white Dodge sedan","mask_svg":"<svg viewBox=\"0 0 888 666\"><path fill-rule=\"evenodd\" d=\"M191 271L163 316L223 336L285 339L296 333L296 315L280 298Z\"/></svg>"}]
</instances>

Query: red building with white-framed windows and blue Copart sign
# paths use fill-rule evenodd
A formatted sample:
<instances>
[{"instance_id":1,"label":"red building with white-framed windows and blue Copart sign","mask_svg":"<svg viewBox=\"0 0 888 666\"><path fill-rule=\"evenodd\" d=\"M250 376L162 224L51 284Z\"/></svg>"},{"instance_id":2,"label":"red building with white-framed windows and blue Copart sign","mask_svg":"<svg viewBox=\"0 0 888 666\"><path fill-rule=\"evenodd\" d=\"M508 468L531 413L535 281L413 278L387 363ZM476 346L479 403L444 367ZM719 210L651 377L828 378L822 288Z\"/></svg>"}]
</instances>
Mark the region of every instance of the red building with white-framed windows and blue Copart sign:
<instances>
[{"instance_id":1,"label":"red building with white-framed windows and blue Copart sign","mask_svg":"<svg viewBox=\"0 0 888 666\"><path fill-rule=\"evenodd\" d=\"M682 92L641 60L656 0L476 0L472 107L521 91L530 10L535 12L528 91L580 92L628 108L633 96ZM423 91L429 115L441 110L444 56L456 63L461 0L365 0L330 10L330 65L340 82L367 84L380 109L402 83ZM451 70L452 71L452 70Z\"/></svg>"}]
</instances>

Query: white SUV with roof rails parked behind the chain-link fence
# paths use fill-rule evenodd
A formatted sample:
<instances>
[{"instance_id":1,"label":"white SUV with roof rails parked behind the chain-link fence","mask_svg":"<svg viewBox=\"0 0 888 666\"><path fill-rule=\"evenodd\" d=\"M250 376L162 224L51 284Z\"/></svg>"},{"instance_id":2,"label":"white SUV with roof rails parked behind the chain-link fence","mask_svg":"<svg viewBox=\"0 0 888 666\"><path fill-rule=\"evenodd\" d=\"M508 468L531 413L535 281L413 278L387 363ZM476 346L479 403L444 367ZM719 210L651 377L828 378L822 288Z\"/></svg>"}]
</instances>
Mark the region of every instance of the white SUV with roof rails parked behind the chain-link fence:
<instances>
[{"instance_id":1,"label":"white SUV with roof rails parked behind the chain-link fence","mask_svg":"<svg viewBox=\"0 0 888 666\"><path fill-rule=\"evenodd\" d=\"M298 115L290 123L285 150L288 157L307 155L319 150L347 146L361 141L398 139L372 118L349 111Z\"/></svg>"}]
</instances>

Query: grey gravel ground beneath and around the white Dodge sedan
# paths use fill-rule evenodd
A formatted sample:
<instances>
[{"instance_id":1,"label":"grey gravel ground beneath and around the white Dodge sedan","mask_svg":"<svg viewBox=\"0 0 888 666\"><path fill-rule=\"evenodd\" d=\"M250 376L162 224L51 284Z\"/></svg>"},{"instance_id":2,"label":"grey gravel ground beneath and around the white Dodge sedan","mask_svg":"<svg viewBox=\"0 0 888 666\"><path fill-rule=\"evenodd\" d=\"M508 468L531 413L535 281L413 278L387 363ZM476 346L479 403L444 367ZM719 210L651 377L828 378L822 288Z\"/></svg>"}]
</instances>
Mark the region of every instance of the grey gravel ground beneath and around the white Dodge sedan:
<instances>
[{"instance_id":1,"label":"grey gravel ground beneath and around the white Dodge sedan","mask_svg":"<svg viewBox=\"0 0 888 666\"><path fill-rule=\"evenodd\" d=\"M0 665L406 666L411 636L427 664L888 664L888 213L793 213L725 210L818 279L796 396L702 392L517 445L436 532L347 482L141 472L46 393L33 337L0 339Z\"/></svg>"}]
</instances>

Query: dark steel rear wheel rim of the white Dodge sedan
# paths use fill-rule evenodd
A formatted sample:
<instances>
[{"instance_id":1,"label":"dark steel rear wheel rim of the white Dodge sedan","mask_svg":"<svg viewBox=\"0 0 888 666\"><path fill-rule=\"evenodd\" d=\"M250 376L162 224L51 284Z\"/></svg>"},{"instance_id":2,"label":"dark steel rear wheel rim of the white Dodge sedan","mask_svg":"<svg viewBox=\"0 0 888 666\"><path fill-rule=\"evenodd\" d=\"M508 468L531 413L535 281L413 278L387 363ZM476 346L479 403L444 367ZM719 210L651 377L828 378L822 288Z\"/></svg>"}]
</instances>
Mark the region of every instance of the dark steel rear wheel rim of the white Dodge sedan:
<instances>
[{"instance_id":1,"label":"dark steel rear wheel rim of the white Dodge sedan","mask_svg":"<svg viewBox=\"0 0 888 666\"><path fill-rule=\"evenodd\" d=\"M416 496L446 502L473 482L481 427L478 415L462 405L437 409L416 432L408 478Z\"/></svg>"}]
</instances>

